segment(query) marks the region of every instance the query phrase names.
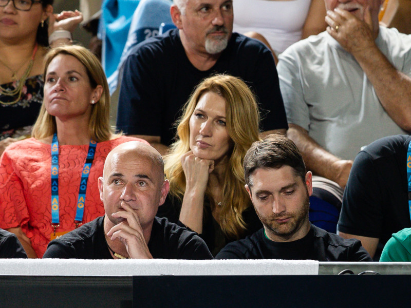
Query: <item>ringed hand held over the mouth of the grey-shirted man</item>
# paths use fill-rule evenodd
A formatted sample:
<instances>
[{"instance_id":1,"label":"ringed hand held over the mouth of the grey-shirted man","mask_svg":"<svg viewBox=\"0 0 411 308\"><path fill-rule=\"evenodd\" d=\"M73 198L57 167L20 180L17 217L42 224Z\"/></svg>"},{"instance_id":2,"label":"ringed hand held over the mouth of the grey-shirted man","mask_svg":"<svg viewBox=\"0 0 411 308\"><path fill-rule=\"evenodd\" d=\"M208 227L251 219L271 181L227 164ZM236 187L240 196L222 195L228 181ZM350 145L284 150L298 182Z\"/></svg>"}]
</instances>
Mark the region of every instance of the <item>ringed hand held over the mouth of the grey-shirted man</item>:
<instances>
[{"instance_id":1,"label":"ringed hand held over the mouth of the grey-shirted man","mask_svg":"<svg viewBox=\"0 0 411 308\"><path fill-rule=\"evenodd\" d=\"M369 7L364 7L364 21L339 8L327 11L325 21L327 32L352 55L378 48Z\"/></svg>"}]
</instances>

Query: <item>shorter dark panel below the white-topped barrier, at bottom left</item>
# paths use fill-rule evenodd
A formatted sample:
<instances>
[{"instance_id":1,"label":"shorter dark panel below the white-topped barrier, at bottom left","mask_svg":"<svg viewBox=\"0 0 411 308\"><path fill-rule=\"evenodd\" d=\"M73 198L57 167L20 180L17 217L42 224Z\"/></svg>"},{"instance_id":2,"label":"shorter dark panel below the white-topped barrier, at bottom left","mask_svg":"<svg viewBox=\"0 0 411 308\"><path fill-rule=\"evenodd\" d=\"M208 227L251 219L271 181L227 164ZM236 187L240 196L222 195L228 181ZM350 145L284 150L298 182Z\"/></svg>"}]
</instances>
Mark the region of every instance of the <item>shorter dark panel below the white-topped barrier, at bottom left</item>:
<instances>
[{"instance_id":1,"label":"shorter dark panel below the white-topped barrier, at bottom left","mask_svg":"<svg viewBox=\"0 0 411 308\"><path fill-rule=\"evenodd\" d=\"M132 306L132 277L0 276L0 307Z\"/></svg>"}]
</instances>

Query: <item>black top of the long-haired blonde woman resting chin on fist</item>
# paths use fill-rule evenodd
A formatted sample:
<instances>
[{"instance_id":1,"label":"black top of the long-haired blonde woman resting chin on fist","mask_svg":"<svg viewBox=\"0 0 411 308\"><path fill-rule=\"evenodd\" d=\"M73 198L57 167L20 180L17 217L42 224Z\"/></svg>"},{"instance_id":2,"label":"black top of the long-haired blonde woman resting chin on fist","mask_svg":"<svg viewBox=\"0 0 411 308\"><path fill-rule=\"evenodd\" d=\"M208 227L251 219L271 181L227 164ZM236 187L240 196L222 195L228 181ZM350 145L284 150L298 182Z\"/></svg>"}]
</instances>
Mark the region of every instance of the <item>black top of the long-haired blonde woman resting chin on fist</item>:
<instances>
[{"instance_id":1,"label":"black top of the long-haired blonde woman resting chin on fist","mask_svg":"<svg viewBox=\"0 0 411 308\"><path fill-rule=\"evenodd\" d=\"M180 220L180 210L181 210L181 203L178 201L177 198L171 197L171 195L167 195L167 198L163 205L158 208L157 216L158 217L166 217L171 222L178 224L179 226L186 227ZM257 214L255 213L254 207L250 204L250 206L242 213L242 219L246 223L247 229L244 230L244 233L241 235L240 238L244 238L247 235L251 235L260 229L263 224L258 219ZM186 227L188 228L188 227ZM218 222L214 219L211 213L210 201L208 198L204 199L204 211L203 211L203 222L202 222L202 234L199 235L204 242L206 242L207 246L210 249L210 252L213 256L217 255L217 253L232 241L236 239L227 237L223 232L218 224Z\"/></svg>"}]
</instances>

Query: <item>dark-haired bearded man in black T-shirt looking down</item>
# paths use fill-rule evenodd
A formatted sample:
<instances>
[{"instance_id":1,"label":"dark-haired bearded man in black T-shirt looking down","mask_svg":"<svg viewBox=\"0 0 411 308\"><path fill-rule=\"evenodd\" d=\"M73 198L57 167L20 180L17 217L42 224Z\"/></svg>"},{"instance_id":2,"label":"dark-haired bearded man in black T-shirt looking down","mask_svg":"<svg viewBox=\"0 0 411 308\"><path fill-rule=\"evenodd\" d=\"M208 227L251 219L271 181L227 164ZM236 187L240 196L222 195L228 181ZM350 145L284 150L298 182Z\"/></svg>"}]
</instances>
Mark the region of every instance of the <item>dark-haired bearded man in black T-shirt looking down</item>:
<instances>
[{"instance_id":1,"label":"dark-haired bearded man in black T-shirt looking down","mask_svg":"<svg viewBox=\"0 0 411 308\"><path fill-rule=\"evenodd\" d=\"M228 244L216 259L372 261L360 241L309 222L312 174L291 140L270 135L254 142L244 171L246 189L264 227Z\"/></svg>"}]
</instances>

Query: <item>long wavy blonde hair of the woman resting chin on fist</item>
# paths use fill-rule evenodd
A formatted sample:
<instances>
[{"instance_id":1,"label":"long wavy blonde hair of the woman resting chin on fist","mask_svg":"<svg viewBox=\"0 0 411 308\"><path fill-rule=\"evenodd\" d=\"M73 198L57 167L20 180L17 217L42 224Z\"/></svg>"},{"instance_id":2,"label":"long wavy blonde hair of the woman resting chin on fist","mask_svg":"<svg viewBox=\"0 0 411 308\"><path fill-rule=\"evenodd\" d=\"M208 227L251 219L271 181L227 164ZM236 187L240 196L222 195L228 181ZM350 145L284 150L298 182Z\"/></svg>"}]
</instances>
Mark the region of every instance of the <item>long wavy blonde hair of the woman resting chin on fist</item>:
<instances>
[{"instance_id":1,"label":"long wavy blonde hair of the woman resting chin on fist","mask_svg":"<svg viewBox=\"0 0 411 308\"><path fill-rule=\"evenodd\" d=\"M250 206L250 199L244 188L242 163L251 144L259 140L259 113L255 98L249 87L240 79L229 75L215 75L202 81L183 107L183 115L177 121L176 142L171 145L170 154L165 156L165 175L170 181L170 194L181 202L185 192L185 175L181 156L190 150L190 118L201 96L213 92L226 102L227 132L234 146L224 175L223 201L220 219L221 229L229 238L238 239L247 228L242 213ZM206 196L215 206L209 187Z\"/></svg>"}]
</instances>

